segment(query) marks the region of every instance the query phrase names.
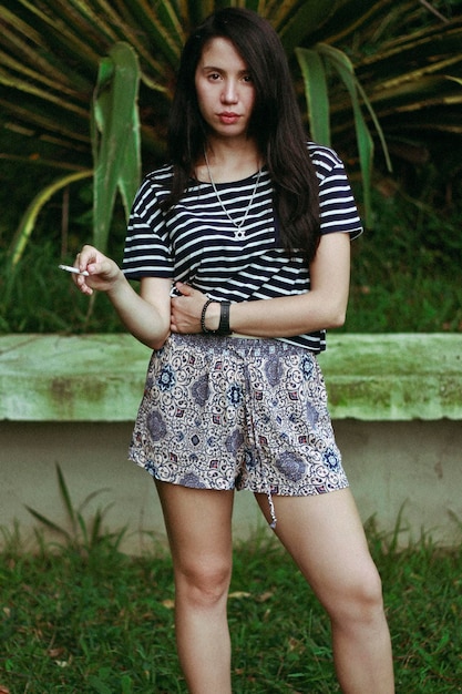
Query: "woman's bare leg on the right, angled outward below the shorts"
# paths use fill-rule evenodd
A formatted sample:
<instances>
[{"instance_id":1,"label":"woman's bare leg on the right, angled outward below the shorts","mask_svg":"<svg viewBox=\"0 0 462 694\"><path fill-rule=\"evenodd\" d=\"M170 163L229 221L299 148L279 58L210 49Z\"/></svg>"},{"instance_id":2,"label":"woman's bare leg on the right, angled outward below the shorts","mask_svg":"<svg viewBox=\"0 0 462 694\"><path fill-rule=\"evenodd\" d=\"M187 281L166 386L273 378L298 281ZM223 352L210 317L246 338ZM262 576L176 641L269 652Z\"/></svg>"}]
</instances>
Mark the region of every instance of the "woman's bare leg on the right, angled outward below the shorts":
<instances>
[{"instance_id":1,"label":"woman's bare leg on the right, angled outward below the shorts","mask_svg":"<svg viewBox=\"0 0 462 694\"><path fill-rule=\"evenodd\" d=\"M268 500L257 494L267 520ZM318 497L274 497L276 534L295 559L332 626L345 694L394 692L381 582L348 489Z\"/></svg>"}]
</instances>

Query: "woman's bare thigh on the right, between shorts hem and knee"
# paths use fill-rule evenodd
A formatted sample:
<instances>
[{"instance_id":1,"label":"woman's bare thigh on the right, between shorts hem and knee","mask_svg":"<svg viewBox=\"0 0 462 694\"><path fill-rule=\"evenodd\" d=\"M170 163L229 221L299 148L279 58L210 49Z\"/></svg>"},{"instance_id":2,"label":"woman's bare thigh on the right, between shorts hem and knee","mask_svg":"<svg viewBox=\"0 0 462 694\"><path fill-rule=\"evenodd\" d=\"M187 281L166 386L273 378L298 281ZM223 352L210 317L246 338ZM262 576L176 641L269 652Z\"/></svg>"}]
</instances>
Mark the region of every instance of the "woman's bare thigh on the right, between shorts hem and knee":
<instances>
[{"instance_id":1,"label":"woman's bare thigh on the right, between shorts hem and knee","mask_svg":"<svg viewBox=\"0 0 462 694\"><path fill-rule=\"evenodd\" d=\"M380 583L349 489L311 497L273 497L275 533L326 608ZM269 519L268 501L257 501Z\"/></svg>"}]
</instances>

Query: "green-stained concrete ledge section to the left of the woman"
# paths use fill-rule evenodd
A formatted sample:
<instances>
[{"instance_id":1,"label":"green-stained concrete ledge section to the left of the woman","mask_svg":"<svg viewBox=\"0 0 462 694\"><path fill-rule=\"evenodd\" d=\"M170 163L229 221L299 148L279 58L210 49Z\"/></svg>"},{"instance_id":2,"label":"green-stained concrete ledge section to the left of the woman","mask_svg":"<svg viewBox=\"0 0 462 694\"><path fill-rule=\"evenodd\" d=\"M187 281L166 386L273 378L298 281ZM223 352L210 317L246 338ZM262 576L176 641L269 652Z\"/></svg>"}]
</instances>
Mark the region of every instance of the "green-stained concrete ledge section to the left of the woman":
<instances>
[{"instance_id":1,"label":"green-stained concrete ledge section to the left of the woman","mask_svg":"<svg viewBox=\"0 0 462 694\"><path fill-rule=\"evenodd\" d=\"M0 337L0 419L131 421L148 359L131 335Z\"/></svg>"}]
</instances>

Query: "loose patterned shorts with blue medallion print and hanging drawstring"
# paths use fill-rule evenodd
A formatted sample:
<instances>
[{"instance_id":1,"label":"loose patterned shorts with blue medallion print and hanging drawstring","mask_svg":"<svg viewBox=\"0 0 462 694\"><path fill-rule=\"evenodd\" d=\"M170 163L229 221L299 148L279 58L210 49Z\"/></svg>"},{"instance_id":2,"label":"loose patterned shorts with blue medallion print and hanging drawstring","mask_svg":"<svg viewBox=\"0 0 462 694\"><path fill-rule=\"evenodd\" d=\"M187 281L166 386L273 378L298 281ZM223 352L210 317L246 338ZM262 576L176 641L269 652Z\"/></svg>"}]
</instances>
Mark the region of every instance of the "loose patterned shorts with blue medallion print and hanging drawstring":
<instances>
[{"instance_id":1,"label":"loose patterned shorts with blue medallion print and hanging drawstring","mask_svg":"<svg viewBox=\"0 0 462 694\"><path fill-rule=\"evenodd\" d=\"M198 489L348 487L315 355L277 339L172 335L154 351L130 459Z\"/></svg>"}]
</instances>

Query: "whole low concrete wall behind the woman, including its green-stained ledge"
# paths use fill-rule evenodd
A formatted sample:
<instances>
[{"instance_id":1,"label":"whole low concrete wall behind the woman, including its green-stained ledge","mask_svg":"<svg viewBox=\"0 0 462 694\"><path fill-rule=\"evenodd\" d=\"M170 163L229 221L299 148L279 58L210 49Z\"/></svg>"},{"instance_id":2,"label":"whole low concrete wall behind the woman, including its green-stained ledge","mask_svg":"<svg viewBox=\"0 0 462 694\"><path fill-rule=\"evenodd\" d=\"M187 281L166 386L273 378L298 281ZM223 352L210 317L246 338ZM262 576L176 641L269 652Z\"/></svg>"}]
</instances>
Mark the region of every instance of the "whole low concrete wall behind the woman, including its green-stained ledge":
<instances>
[{"instance_id":1,"label":"whole low concrete wall behind the woman, including its green-stained ledge","mask_svg":"<svg viewBox=\"0 0 462 694\"><path fill-rule=\"evenodd\" d=\"M362 518L401 541L421 530L462 537L462 340L459 336L331 336L320 357L337 439ZM78 508L126 527L123 549L165 540L150 476L126 461L148 351L127 336L0 338L0 524L65 525L59 463ZM459 519L459 522L458 522ZM263 525L251 494L236 498L235 535Z\"/></svg>"}]
</instances>

